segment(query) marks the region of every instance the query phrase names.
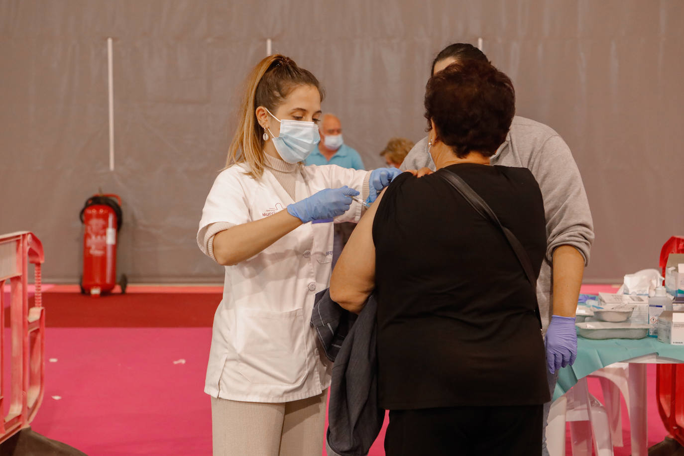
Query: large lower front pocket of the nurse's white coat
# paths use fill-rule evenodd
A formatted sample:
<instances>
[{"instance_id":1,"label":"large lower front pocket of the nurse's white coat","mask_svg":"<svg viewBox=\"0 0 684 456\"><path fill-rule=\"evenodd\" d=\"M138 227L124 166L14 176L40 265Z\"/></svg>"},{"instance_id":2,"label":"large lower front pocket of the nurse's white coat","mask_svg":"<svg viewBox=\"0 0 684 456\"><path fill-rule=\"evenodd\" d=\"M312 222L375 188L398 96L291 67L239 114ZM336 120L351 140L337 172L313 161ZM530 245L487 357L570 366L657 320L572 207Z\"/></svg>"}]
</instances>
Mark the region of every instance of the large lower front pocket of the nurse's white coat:
<instances>
[{"instance_id":1,"label":"large lower front pocket of the nurse's white coat","mask_svg":"<svg viewBox=\"0 0 684 456\"><path fill-rule=\"evenodd\" d=\"M304 310L237 309L239 373L254 384L302 384L306 377Z\"/></svg>"}]
</instances>

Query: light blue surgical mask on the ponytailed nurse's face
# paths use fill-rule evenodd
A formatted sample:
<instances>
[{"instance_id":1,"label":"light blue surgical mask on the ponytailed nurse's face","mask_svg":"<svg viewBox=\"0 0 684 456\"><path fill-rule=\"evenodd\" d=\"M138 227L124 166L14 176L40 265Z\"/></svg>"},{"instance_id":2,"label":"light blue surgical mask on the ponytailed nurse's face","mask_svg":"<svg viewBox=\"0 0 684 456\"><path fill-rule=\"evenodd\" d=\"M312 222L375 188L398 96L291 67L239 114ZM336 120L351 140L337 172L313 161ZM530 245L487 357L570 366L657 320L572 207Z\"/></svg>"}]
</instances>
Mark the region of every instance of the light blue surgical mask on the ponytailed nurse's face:
<instances>
[{"instance_id":1,"label":"light blue surgical mask on the ponytailed nurse's face","mask_svg":"<svg viewBox=\"0 0 684 456\"><path fill-rule=\"evenodd\" d=\"M271 129L267 129L273 138L273 145L276 146L280 158L287 163L299 163L306 160L311 152L321 142L318 134L318 126L314 122L304 120L280 120L271 111L266 109L271 117L280 122L280 134L274 137Z\"/></svg>"}]
</instances>

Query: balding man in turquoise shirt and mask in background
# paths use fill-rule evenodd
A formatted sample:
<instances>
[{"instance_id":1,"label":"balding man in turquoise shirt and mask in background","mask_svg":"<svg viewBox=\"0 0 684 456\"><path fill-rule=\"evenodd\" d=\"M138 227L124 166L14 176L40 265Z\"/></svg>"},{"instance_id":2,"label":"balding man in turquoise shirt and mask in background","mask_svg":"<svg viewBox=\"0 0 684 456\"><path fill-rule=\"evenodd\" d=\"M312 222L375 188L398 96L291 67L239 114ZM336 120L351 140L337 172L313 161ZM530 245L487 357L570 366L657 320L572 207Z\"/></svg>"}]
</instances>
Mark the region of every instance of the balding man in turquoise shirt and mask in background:
<instances>
[{"instance_id":1,"label":"balding man in turquoise shirt and mask in background","mask_svg":"<svg viewBox=\"0 0 684 456\"><path fill-rule=\"evenodd\" d=\"M321 135L321 142L318 144L318 149L311 152L306 159L307 165L338 165L354 168L354 170L364 169L358 152L344 144L342 124L337 116L324 115L318 132Z\"/></svg>"}]
</instances>

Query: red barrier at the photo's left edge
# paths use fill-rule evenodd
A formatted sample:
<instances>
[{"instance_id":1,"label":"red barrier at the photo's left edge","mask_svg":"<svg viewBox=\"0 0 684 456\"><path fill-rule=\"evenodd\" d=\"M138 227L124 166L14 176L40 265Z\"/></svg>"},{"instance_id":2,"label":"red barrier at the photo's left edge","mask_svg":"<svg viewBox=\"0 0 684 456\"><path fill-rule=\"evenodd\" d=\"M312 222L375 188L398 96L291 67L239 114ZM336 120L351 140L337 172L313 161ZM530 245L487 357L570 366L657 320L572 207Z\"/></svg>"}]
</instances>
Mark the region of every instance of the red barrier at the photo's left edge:
<instances>
[{"instance_id":1,"label":"red barrier at the photo's left edge","mask_svg":"<svg viewBox=\"0 0 684 456\"><path fill-rule=\"evenodd\" d=\"M29 263L36 267L36 297L29 308ZM43 250L31 232L0 235L0 394L5 391L5 335L10 332L12 373L9 397L0 395L0 414L5 401L9 412L0 420L0 444L27 427L36 416L44 394L45 312L40 294ZM5 282L10 282L10 328L5 330Z\"/></svg>"}]
</instances>

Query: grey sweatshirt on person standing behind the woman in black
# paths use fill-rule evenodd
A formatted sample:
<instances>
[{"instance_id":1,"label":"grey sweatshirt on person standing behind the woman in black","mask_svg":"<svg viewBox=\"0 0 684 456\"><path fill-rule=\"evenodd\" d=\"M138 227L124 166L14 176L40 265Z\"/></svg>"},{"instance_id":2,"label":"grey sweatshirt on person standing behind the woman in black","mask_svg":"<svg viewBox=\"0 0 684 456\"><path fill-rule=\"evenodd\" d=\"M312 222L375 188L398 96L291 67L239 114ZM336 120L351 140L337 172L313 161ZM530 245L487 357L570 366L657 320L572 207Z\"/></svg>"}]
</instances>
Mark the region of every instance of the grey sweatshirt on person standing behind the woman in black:
<instances>
[{"instance_id":1,"label":"grey sweatshirt on person standing behind the woman in black","mask_svg":"<svg viewBox=\"0 0 684 456\"><path fill-rule=\"evenodd\" d=\"M514 117L505 142L491 159L492 165L528 168L542 191L547 219L547 260L537 280L537 300L544 332L553 314L551 262L553 250L572 245L589 263L594 241L594 223L587 194L570 148L553 129L534 120ZM428 137L416 144L402 163L401 170L435 170L428 152Z\"/></svg>"}]
</instances>

